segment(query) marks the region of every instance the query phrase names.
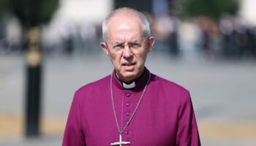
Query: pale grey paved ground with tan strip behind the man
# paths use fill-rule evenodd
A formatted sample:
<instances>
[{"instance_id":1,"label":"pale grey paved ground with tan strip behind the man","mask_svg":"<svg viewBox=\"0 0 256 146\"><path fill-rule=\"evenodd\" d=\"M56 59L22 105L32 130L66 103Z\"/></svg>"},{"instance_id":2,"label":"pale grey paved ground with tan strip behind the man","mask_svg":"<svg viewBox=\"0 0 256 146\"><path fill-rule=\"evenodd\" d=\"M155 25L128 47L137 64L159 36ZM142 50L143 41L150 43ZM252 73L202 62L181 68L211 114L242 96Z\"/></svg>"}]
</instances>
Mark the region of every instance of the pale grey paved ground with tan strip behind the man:
<instances>
[{"instance_id":1,"label":"pale grey paved ground with tan strip behind the man","mask_svg":"<svg viewBox=\"0 0 256 146\"><path fill-rule=\"evenodd\" d=\"M203 145L255 145L256 61L172 59L151 54L146 66L191 91ZM110 72L112 66L103 53L46 57L42 137L25 139L25 59L21 55L0 55L0 145L61 145L75 89Z\"/></svg>"}]
</instances>

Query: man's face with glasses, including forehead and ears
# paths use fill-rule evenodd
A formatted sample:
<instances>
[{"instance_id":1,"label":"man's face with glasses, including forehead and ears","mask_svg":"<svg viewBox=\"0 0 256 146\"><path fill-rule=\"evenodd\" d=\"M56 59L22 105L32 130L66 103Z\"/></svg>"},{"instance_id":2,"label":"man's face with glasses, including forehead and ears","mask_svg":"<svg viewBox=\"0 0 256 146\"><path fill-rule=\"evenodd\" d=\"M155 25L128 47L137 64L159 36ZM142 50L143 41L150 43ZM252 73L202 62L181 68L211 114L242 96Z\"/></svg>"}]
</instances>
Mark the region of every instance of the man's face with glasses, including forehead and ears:
<instances>
[{"instance_id":1,"label":"man's face with glasses, including forehead and ears","mask_svg":"<svg viewBox=\"0 0 256 146\"><path fill-rule=\"evenodd\" d=\"M131 82L143 73L154 38L143 37L140 19L115 16L108 23L108 41L101 47L110 57L119 79Z\"/></svg>"}]
</instances>

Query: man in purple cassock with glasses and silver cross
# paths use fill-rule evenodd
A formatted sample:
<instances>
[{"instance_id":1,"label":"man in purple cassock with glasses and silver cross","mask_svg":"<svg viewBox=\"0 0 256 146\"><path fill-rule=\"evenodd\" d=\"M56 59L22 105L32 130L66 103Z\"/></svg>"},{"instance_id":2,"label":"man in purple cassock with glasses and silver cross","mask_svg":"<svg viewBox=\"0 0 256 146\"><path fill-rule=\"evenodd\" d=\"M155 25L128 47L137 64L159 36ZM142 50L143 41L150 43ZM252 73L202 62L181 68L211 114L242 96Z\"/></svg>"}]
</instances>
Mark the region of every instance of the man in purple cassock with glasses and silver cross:
<instances>
[{"instance_id":1,"label":"man in purple cassock with glasses and silver cross","mask_svg":"<svg viewBox=\"0 0 256 146\"><path fill-rule=\"evenodd\" d=\"M114 71L75 92L63 145L200 145L189 92L144 66L154 45L146 17L120 8L102 31Z\"/></svg>"}]
</instances>

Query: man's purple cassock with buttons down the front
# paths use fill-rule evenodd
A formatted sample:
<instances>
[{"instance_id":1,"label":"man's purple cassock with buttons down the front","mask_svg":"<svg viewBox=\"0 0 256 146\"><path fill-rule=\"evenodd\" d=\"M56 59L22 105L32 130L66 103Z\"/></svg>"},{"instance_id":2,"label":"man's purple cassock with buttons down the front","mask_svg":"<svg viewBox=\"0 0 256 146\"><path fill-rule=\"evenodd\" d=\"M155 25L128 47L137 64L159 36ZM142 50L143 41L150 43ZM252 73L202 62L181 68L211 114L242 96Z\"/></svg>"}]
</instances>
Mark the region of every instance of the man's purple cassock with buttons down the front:
<instances>
[{"instance_id":1,"label":"man's purple cassock with buttons down the front","mask_svg":"<svg viewBox=\"0 0 256 146\"><path fill-rule=\"evenodd\" d=\"M140 100L122 141L133 146L198 146L200 138L189 91L145 69L135 88L125 89L113 72L113 103L122 130ZM63 146L107 146L119 142L110 75L75 92Z\"/></svg>"}]
</instances>

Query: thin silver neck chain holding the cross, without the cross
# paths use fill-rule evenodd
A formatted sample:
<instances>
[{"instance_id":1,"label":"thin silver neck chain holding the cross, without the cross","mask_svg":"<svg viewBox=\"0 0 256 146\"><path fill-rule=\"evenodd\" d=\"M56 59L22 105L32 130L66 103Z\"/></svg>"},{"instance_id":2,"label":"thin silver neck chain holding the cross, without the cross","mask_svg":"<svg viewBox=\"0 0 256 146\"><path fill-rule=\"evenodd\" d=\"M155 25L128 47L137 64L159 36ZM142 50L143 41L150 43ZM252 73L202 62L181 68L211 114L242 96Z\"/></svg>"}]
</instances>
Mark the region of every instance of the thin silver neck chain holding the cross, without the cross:
<instances>
[{"instance_id":1,"label":"thin silver neck chain holding the cross, without the cross","mask_svg":"<svg viewBox=\"0 0 256 146\"><path fill-rule=\"evenodd\" d=\"M151 78L151 73L149 72L148 81L147 81L147 83L146 83L146 85L145 85L145 88L143 89L143 93L142 93L141 96L140 96L140 100L138 101L138 104L137 104L137 106L135 107L135 110L134 110L134 112L132 113L132 116L129 118L129 120L128 120L128 122L126 123L126 125L124 126L123 130L121 130L121 129L119 128L118 120L117 120L117 117L116 117L116 110L115 110L115 105L114 105L114 100L113 100L113 88L112 88L112 84L113 84L113 83L112 83L112 82L113 82L113 74L111 74L111 77L110 77L110 93L111 93L112 107L113 107L113 112L114 112L114 116L115 116L115 120L116 120L116 126L117 126L117 128L118 128L118 133L119 133L120 135L122 135L122 134L124 133L125 129L127 129L127 127L129 126L129 123L131 122L132 118L133 118L134 115L135 115L135 112L138 110L138 107L139 107L139 105L140 105L140 102L141 102L142 99L143 99L143 95L144 95L144 93L145 93L145 91L146 91L146 88L147 88L147 86L148 86L148 82L149 82L150 78Z\"/></svg>"}]
</instances>

